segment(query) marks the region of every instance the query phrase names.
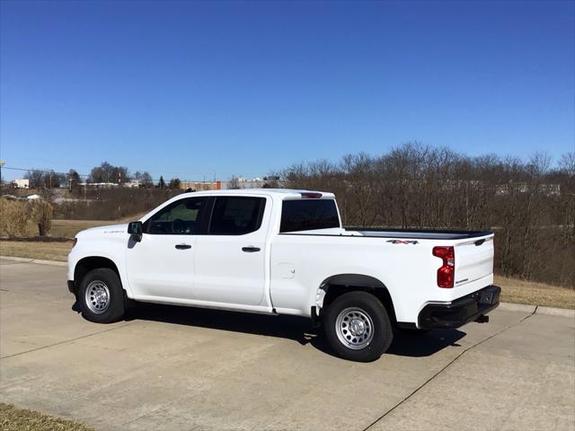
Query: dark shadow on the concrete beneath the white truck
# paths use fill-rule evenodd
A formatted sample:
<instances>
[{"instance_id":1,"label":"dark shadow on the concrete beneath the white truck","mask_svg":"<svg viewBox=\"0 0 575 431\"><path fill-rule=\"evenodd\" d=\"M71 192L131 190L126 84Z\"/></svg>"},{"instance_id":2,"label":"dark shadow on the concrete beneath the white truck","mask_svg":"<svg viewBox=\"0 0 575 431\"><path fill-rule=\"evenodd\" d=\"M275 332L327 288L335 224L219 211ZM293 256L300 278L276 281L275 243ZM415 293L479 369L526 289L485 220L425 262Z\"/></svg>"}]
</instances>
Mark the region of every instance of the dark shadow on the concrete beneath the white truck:
<instances>
[{"instance_id":1,"label":"dark shadow on the concrete beneath the white truck","mask_svg":"<svg viewBox=\"0 0 575 431\"><path fill-rule=\"evenodd\" d=\"M75 303L72 310L80 312L79 304ZM173 325L292 339L302 346L311 344L318 350L333 356L332 349L323 338L322 329L312 328L311 321L304 317L138 303L136 307L127 310L125 320L158 321ZM431 356L446 347L458 347L457 341L464 336L465 332L461 330L432 330L425 334L398 330L386 355Z\"/></svg>"}]
</instances>

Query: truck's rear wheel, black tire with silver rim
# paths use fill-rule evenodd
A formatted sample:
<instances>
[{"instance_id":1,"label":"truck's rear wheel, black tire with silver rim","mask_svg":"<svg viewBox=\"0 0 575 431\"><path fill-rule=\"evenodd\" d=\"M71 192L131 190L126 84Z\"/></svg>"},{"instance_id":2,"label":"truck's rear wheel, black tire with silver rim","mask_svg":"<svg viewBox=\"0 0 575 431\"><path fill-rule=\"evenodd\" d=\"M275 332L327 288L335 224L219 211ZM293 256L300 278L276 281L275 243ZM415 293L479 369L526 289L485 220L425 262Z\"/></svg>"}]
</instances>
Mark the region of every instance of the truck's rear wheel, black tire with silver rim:
<instances>
[{"instance_id":1,"label":"truck's rear wheel, black tire with silver rim","mask_svg":"<svg viewBox=\"0 0 575 431\"><path fill-rule=\"evenodd\" d=\"M355 319L361 321L360 329L364 330L358 339L355 339L351 332L346 333L345 328L338 330L341 325L345 326L345 316L348 316L349 313L352 313L352 316L360 316L360 313L363 313L361 319ZM339 317L341 317L341 321ZM369 333L367 329L371 323L373 323L373 328L371 328L372 332ZM349 327L349 329L351 328ZM384 304L376 296L361 291L341 295L327 306L323 313L323 330L328 343L337 356L358 362L375 361L385 353L394 339L394 330ZM340 339L340 336L349 339L347 345ZM370 340L368 340L369 337ZM362 347L360 339L365 339L365 343L367 343L365 347ZM357 341L358 345L349 347L349 344L354 341Z\"/></svg>"}]
</instances>

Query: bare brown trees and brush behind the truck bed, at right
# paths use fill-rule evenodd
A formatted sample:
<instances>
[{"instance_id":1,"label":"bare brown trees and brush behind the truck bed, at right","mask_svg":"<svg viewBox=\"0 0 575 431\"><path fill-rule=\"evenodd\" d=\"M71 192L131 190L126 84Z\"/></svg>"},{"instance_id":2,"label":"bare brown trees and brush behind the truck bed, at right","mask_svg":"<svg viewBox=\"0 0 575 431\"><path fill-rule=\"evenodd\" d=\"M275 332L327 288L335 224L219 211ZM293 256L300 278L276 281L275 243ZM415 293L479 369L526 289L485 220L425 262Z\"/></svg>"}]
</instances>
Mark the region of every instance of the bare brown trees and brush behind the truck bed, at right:
<instances>
[{"instance_id":1,"label":"bare brown trees and brush behind the truck bed, at right","mask_svg":"<svg viewBox=\"0 0 575 431\"><path fill-rule=\"evenodd\" d=\"M575 287L575 153L552 165L406 144L338 163L298 163L280 184L336 194L343 223L420 229L492 229L504 276Z\"/></svg>"}]
</instances>

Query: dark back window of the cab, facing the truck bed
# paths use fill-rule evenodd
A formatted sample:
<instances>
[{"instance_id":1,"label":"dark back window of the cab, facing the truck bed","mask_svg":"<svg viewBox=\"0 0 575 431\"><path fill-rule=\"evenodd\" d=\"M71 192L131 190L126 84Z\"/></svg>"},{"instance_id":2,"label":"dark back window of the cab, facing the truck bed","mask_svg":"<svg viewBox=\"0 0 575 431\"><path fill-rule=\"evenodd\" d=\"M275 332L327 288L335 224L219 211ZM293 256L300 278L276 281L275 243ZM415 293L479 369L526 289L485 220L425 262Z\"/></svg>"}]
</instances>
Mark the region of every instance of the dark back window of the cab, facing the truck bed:
<instances>
[{"instance_id":1,"label":"dark back window of the cab, facing the truck bed","mask_svg":"<svg viewBox=\"0 0 575 431\"><path fill-rule=\"evenodd\" d=\"M340 227L333 199L284 200L279 232L311 231Z\"/></svg>"}]
</instances>

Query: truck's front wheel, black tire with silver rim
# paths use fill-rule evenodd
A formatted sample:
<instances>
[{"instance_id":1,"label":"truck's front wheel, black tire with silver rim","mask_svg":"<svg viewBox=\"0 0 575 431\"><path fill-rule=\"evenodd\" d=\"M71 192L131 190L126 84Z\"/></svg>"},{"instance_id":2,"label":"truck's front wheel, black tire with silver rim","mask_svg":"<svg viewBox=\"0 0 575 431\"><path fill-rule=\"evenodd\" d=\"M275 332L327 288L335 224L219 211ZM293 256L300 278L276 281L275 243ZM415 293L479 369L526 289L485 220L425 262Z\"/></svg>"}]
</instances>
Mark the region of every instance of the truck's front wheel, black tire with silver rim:
<instances>
[{"instance_id":1,"label":"truck's front wheel, black tire with silver rim","mask_svg":"<svg viewBox=\"0 0 575 431\"><path fill-rule=\"evenodd\" d=\"M95 296L86 295L86 290L89 287L92 293L94 289L100 289L104 292L107 289L107 305L105 309L96 309L97 306L102 306L102 302L98 303ZM92 298L92 304L87 303L88 299L86 296ZM87 321L95 321L97 323L119 321L124 315L124 290L118 274L110 268L96 268L88 272L80 282L78 302L82 308L82 316Z\"/></svg>"}]
</instances>

